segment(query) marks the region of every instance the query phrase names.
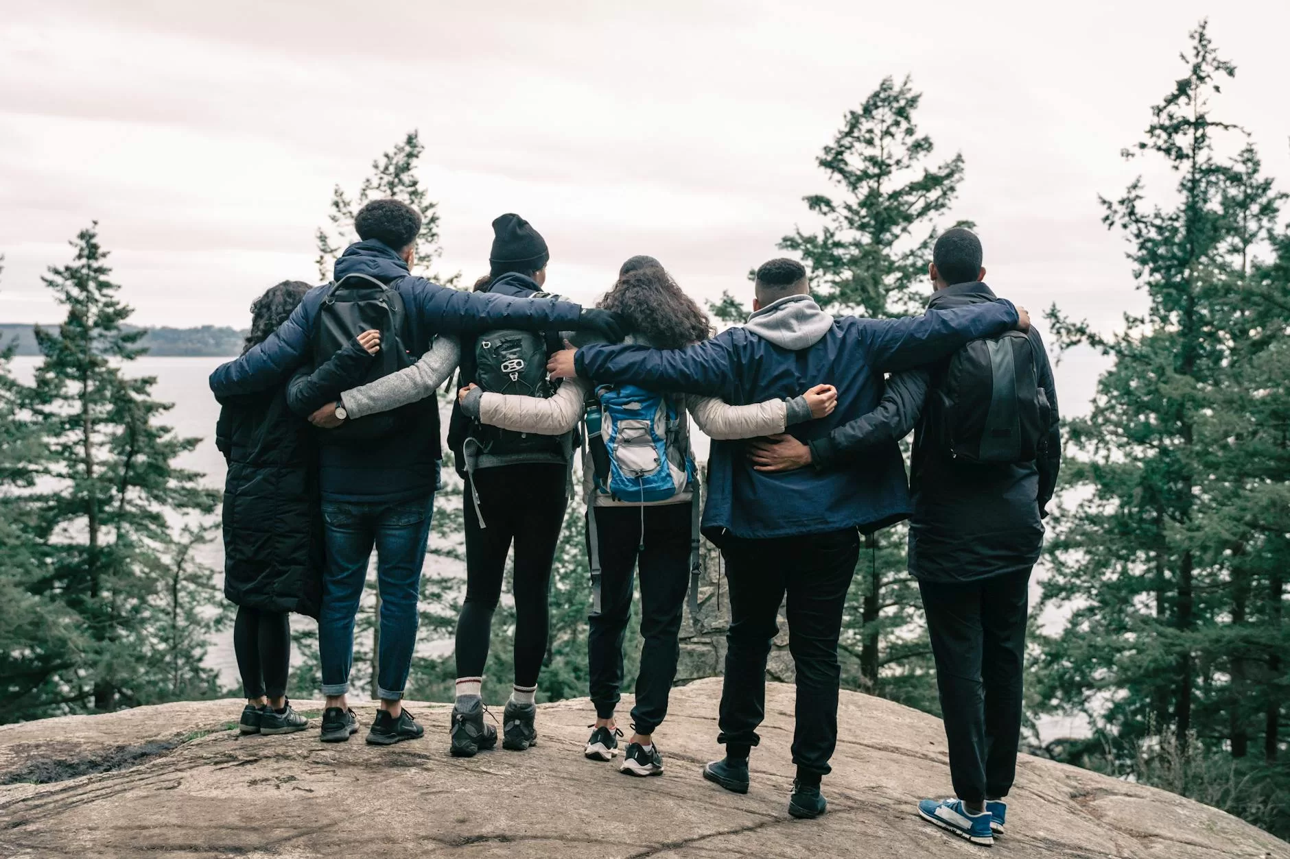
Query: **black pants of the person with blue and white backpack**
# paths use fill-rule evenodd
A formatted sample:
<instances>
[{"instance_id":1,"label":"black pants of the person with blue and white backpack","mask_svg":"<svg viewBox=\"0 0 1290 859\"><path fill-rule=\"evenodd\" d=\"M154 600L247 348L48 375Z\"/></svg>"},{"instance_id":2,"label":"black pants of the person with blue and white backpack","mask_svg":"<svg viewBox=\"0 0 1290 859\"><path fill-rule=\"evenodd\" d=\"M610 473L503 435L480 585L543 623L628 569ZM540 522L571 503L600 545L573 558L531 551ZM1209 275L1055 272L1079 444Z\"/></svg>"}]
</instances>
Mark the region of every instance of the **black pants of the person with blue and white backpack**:
<instances>
[{"instance_id":1,"label":"black pants of the person with blue and white backpack","mask_svg":"<svg viewBox=\"0 0 1290 859\"><path fill-rule=\"evenodd\" d=\"M691 502L693 503L693 502ZM623 682L623 636L632 611L632 574L641 570L641 668L632 724L653 734L667 716L681 647L681 610L690 586L691 504L596 507L600 546L600 614L587 637L591 703L609 718ZM644 535L641 520L644 517Z\"/></svg>"}]
</instances>

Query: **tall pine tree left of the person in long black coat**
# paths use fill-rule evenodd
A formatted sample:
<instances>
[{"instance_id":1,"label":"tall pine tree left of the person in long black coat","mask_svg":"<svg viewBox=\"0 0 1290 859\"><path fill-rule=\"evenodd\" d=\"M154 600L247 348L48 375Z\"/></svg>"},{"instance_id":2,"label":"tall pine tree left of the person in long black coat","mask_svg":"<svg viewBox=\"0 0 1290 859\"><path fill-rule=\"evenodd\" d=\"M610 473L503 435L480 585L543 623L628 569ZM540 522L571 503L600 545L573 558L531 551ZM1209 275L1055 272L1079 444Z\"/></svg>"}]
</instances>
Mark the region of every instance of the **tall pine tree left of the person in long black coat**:
<instances>
[{"instance_id":1,"label":"tall pine tree left of the person in long black coat","mask_svg":"<svg viewBox=\"0 0 1290 859\"><path fill-rule=\"evenodd\" d=\"M55 678L61 698L107 711L152 700L164 684L151 654L161 646L155 624L160 586L175 561L174 521L212 512L215 495L197 472L174 466L199 440L156 423L170 406L151 399L155 379L124 373L144 331L123 328L130 308L110 280L97 224L71 244L72 262L44 277L67 319L57 331L36 329L44 361L30 409L48 460L31 503L48 557L43 587L75 613L89 640ZM172 654L182 668L169 675L212 677L201 653Z\"/></svg>"}]
</instances>

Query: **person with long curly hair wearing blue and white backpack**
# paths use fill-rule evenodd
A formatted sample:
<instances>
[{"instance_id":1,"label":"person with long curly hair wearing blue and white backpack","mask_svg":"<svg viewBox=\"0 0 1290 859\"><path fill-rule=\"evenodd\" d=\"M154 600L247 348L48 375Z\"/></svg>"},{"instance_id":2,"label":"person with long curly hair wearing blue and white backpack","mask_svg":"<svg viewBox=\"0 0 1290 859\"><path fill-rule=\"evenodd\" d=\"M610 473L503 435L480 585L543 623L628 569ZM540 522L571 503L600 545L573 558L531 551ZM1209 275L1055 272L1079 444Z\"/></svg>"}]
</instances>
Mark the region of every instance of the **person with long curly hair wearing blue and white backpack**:
<instances>
[{"instance_id":1,"label":"person with long curly hair wearing blue and white backpack","mask_svg":"<svg viewBox=\"0 0 1290 859\"><path fill-rule=\"evenodd\" d=\"M619 315L628 342L680 348L711 337L707 315L651 257L623 263L618 282L599 307ZM544 370L544 366L543 366ZM676 678L686 592L697 595L699 480L686 413L717 439L747 439L829 414L832 388L804 396L730 406L715 397L686 397L636 386L596 386L571 379L550 397L485 391L459 392L462 411L481 426L561 437L582 422L586 433L583 491L592 611L587 640L596 724L583 755L610 761L618 753L615 708L623 682L623 645L640 570L644 638L633 734L620 771L662 775L654 731L667 716ZM693 605L693 602L691 602Z\"/></svg>"}]
</instances>

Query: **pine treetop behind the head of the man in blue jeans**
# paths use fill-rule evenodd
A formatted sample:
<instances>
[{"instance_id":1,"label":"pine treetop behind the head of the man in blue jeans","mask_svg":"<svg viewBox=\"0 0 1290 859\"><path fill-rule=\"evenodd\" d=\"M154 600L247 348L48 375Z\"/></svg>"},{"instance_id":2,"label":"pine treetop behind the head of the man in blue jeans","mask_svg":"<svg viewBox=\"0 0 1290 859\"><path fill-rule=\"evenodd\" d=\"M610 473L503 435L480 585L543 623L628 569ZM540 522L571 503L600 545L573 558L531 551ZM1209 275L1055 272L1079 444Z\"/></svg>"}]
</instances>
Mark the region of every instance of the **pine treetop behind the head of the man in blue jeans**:
<instances>
[{"instance_id":1,"label":"pine treetop behind the head of the man in blue jeans","mask_svg":"<svg viewBox=\"0 0 1290 859\"><path fill-rule=\"evenodd\" d=\"M353 217L359 209L372 200L393 197L421 213L421 235L417 236L413 273L444 286L458 285L461 272L445 277L432 271L435 261L444 252L439 246L439 204L428 197L417 177L417 166L424 151L419 132L408 132L400 143L388 152L382 152L381 157L372 163L372 174L362 181L353 199L339 184L335 186L332 191L332 210L328 213L330 226L319 227L316 233L319 277L330 279L337 257L346 245L359 240L353 232Z\"/></svg>"}]
</instances>

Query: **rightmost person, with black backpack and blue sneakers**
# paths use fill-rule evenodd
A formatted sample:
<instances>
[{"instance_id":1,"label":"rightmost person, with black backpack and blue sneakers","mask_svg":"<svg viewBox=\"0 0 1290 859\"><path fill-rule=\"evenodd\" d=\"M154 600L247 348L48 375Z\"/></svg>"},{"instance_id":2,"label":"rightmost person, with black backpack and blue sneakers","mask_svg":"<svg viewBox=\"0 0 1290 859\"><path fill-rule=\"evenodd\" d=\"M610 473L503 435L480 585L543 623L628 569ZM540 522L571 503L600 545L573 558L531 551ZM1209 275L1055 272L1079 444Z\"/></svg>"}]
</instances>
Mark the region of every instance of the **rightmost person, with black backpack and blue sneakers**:
<instances>
[{"instance_id":1,"label":"rightmost person, with black backpack and blue sneakers","mask_svg":"<svg viewBox=\"0 0 1290 859\"><path fill-rule=\"evenodd\" d=\"M933 248L930 310L996 301L980 240L947 231ZM918 814L969 841L1004 833L1022 730L1031 570L1062 464L1053 368L1038 331L978 341L894 374L878 406L804 445L752 446L762 472L828 471L915 430L909 573L918 580L937 662L955 798Z\"/></svg>"}]
</instances>

